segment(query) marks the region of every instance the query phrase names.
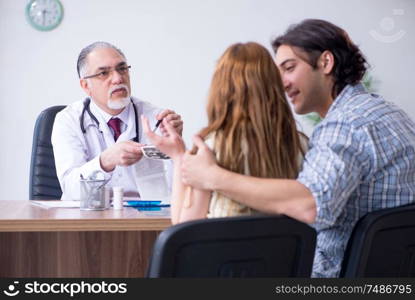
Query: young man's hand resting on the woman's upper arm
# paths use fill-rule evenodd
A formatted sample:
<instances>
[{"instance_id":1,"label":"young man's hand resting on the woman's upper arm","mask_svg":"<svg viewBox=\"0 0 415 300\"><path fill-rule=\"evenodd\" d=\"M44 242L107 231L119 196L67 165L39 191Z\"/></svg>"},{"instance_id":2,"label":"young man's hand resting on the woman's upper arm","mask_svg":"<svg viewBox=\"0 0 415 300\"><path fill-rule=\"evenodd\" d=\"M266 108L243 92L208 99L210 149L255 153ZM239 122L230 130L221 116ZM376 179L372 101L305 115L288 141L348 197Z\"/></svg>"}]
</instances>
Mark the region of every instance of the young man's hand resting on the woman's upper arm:
<instances>
[{"instance_id":1,"label":"young man's hand resting on the woman's upper arm","mask_svg":"<svg viewBox=\"0 0 415 300\"><path fill-rule=\"evenodd\" d=\"M216 164L215 156L200 136L193 137L194 144L198 147L196 154L186 151L182 159L183 183L202 190L214 190L216 171L220 168Z\"/></svg>"}]
</instances>

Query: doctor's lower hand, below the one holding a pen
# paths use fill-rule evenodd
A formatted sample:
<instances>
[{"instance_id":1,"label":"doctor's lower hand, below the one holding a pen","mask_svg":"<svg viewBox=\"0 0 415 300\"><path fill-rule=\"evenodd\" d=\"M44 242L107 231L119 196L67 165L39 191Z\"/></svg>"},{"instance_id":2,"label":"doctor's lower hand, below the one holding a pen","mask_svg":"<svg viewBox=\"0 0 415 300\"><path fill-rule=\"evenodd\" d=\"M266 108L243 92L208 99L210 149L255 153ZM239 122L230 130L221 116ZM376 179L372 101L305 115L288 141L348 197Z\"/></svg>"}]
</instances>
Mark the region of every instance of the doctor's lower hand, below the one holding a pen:
<instances>
[{"instance_id":1,"label":"doctor's lower hand, below the one holding a pen","mask_svg":"<svg viewBox=\"0 0 415 300\"><path fill-rule=\"evenodd\" d=\"M142 146L144 145L133 141L115 143L101 153L101 168L105 172L111 172L116 166L129 166L138 162L143 157Z\"/></svg>"}]
</instances>

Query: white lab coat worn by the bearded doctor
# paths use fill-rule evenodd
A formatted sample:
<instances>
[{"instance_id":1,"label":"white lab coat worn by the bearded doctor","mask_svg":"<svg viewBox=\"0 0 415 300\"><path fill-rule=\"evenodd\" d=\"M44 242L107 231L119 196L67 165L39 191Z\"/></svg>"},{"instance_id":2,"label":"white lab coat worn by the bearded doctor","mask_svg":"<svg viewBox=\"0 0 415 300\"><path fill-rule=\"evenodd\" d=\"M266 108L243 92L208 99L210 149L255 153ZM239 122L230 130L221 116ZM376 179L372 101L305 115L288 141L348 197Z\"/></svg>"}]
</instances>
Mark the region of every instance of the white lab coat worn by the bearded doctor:
<instances>
[{"instance_id":1,"label":"white lab coat worn by the bearded doctor","mask_svg":"<svg viewBox=\"0 0 415 300\"><path fill-rule=\"evenodd\" d=\"M143 134L140 116L143 114L150 121L153 128L156 123L155 116L162 110L148 102L132 98L137 108L139 124L139 142L142 144L151 144ZM117 142L131 140L136 136L134 109L129 104L128 123L126 130L119 136ZM98 119L99 128L87 112L84 115L84 125L86 133L82 133L80 127L80 116L83 110L83 100L68 105L60 111L55 118L52 131L52 145L55 156L56 173L62 188L62 200L79 200L80 199L80 175L87 178L93 172L99 170L109 179L107 186L121 186L125 192L140 192L141 174L148 173L167 174L168 188L171 188L172 163L171 161L150 160L142 158L138 163L128 166L116 166L114 171L105 172L102 170L99 156L102 151L112 146L114 136L103 119L98 106L91 101L91 113ZM101 132L102 133L101 133ZM166 170L166 173L165 173ZM154 186L157 189L157 186Z\"/></svg>"}]
</instances>

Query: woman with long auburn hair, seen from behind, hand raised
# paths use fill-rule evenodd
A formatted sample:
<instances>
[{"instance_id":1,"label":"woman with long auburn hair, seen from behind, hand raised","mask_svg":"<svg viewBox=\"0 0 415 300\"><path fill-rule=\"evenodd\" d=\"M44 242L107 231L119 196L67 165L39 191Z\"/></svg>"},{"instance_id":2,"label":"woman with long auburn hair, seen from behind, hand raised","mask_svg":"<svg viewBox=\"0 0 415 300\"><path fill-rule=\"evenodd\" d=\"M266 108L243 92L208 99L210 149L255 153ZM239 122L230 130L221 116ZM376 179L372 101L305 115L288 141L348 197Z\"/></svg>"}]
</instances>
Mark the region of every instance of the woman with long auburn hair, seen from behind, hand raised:
<instances>
[{"instance_id":1,"label":"woman with long auburn hair, seen from behind, hand raised","mask_svg":"<svg viewBox=\"0 0 415 300\"><path fill-rule=\"evenodd\" d=\"M220 166L262 178L297 177L304 155L301 134L277 66L263 46L238 43L225 51L213 75L207 115L208 125L199 136L214 150ZM167 120L164 137L154 134L144 117L142 121L149 139L174 162L173 223L255 213L215 191L185 186L180 174L182 138Z\"/></svg>"}]
</instances>

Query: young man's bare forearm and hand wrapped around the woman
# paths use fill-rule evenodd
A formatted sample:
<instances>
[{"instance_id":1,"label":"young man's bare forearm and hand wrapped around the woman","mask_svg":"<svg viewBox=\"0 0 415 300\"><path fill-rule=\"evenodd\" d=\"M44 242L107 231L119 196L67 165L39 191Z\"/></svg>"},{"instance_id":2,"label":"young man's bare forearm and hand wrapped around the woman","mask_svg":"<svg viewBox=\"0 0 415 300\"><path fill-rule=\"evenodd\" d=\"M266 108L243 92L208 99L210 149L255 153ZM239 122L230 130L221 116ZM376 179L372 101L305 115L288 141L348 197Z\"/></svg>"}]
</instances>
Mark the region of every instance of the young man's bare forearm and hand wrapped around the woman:
<instances>
[{"instance_id":1,"label":"young man's bare forearm and hand wrapped around the woman","mask_svg":"<svg viewBox=\"0 0 415 300\"><path fill-rule=\"evenodd\" d=\"M258 211L285 214L305 223L314 223L316 202L300 182L290 179L256 178L230 172L216 164L213 153L198 136L197 154L183 157L182 178L185 184L215 190Z\"/></svg>"}]
</instances>

